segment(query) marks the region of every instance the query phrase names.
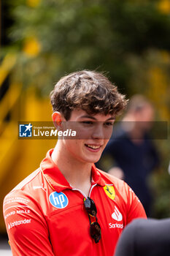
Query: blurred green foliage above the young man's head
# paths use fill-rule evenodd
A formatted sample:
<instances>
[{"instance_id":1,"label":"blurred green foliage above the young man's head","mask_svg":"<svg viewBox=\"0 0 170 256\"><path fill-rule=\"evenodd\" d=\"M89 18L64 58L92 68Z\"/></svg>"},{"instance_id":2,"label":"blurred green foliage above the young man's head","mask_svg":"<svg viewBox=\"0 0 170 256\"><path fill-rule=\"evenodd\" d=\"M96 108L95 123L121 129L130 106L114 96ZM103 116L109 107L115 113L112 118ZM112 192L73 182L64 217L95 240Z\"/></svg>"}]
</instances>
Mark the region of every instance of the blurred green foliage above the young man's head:
<instances>
[{"instance_id":1,"label":"blurred green foliage above the young man's head","mask_svg":"<svg viewBox=\"0 0 170 256\"><path fill-rule=\"evenodd\" d=\"M158 10L158 1L42 0L36 7L31 1L7 1L15 20L9 37L20 53L22 80L42 94L77 69L107 71L131 94L129 60L143 59L150 49L170 50L170 16ZM41 47L34 58L23 52L29 37Z\"/></svg>"}]
</instances>

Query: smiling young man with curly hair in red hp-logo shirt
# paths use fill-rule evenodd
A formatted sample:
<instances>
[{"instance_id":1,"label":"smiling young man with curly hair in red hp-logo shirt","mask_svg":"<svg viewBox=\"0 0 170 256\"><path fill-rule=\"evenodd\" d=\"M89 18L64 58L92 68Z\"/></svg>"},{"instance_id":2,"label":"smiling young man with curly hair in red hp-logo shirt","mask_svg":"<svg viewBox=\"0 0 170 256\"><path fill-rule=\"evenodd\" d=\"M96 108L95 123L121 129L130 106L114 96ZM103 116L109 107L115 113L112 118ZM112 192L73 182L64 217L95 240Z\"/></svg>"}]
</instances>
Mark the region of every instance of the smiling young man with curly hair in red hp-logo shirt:
<instances>
[{"instance_id":1,"label":"smiling young man with curly hair in red hp-logo shirt","mask_svg":"<svg viewBox=\"0 0 170 256\"><path fill-rule=\"evenodd\" d=\"M123 228L146 214L123 181L97 170L126 101L98 72L61 78L50 94L58 130L74 127L4 199L13 255L113 255Z\"/></svg>"}]
</instances>

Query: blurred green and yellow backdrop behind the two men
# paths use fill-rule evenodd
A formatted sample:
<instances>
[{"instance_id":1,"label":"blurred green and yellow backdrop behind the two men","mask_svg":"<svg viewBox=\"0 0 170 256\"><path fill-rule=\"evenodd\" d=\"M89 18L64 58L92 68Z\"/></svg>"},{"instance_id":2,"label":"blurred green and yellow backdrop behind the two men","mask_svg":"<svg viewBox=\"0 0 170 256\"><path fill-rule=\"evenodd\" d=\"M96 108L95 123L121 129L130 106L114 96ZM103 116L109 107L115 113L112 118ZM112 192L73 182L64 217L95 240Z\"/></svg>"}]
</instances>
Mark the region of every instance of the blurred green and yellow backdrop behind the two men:
<instances>
[{"instance_id":1,"label":"blurred green and yellow backdrop behind the two men","mask_svg":"<svg viewBox=\"0 0 170 256\"><path fill-rule=\"evenodd\" d=\"M155 120L170 118L169 0L0 0L0 233L4 196L39 167L55 140L18 140L18 121L51 121L49 93L80 69L107 72L119 91L142 94ZM169 136L148 179L152 217L170 217ZM169 171L168 171L169 170Z\"/></svg>"}]
</instances>

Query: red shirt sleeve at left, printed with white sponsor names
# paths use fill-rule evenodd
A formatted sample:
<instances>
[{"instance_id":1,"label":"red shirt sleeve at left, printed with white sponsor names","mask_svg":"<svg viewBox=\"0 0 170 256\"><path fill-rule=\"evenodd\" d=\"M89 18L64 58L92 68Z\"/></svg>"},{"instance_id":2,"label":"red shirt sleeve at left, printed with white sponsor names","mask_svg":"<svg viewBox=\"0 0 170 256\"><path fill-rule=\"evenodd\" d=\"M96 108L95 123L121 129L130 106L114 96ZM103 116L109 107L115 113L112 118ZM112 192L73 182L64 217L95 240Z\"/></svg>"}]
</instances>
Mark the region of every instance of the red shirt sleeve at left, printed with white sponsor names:
<instances>
[{"instance_id":1,"label":"red shirt sleeve at left, printed with white sponsor names","mask_svg":"<svg viewBox=\"0 0 170 256\"><path fill-rule=\"evenodd\" d=\"M45 217L30 196L9 193L3 211L12 255L54 256Z\"/></svg>"}]
</instances>

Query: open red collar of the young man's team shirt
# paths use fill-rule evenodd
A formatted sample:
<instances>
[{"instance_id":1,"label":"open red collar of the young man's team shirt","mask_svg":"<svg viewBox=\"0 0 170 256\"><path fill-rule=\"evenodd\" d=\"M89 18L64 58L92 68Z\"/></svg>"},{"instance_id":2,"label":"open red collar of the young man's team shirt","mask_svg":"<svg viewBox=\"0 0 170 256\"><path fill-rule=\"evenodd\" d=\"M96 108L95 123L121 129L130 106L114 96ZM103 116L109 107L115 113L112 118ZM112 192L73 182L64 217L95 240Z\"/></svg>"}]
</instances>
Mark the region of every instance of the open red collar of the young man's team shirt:
<instances>
[{"instance_id":1,"label":"open red collar of the young man's team shirt","mask_svg":"<svg viewBox=\"0 0 170 256\"><path fill-rule=\"evenodd\" d=\"M52 153L53 149L47 151L45 159L43 159L40 164L40 170L42 171L43 176L45 176L47 183L56 192L61 192L64 189L72 189L72 186L58 169L58 166L53 162L53 159L51 158ZM92 165L91 176L92 185L98 184L102 187L105 186L104 179L101 177L101 173L99 173L94 164Z\"/></svg>"}]
</instances>

